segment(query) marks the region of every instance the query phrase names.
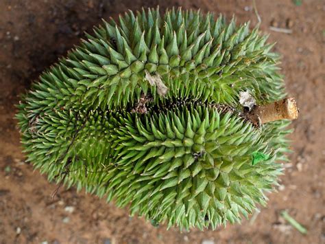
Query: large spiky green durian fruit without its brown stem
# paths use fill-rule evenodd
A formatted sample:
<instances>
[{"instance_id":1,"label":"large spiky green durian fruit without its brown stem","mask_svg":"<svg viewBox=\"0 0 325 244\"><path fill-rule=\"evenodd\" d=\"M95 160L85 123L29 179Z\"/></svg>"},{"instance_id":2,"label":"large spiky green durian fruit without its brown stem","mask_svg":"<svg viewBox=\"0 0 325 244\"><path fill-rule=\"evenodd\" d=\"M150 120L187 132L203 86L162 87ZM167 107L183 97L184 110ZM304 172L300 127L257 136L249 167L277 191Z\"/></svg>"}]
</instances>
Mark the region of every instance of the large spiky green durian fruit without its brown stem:
<instances>
[{"instance_id":1,"label":"large spiky green durian fruit without its brown stem","mask_svg":"<svg viewBox=\"0 0 325 244\"><path fill-rule=\"evenodd\" d=\"M240 222L265 205L290 133L289 120L252 115L286 96L267 36L173 8L130 11L86 38L19 104L35 168L186 230Z\"/></svg>"}]
</instances>

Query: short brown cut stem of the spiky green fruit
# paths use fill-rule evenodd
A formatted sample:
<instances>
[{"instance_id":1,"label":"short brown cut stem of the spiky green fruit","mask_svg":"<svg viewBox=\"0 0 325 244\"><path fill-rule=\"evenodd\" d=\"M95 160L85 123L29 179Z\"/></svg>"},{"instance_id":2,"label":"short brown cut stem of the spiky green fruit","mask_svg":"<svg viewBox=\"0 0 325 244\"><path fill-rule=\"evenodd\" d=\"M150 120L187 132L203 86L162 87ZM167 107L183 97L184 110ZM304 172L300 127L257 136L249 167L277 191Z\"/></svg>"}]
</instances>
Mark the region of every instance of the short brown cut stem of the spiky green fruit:
<instances>
[{"instance_id":1,"label":"short brown cut stem of the spiky green fruit","mask_svg":"<svg viewBox=\"0 0 325 244\"><path fill-rule=\"evenodd\" d=\"M255 106L248 113L254 124L265 124L276 120L296 120L298 107L294 98L285 98L269 104Z\"/></svg>"}]
</instances>

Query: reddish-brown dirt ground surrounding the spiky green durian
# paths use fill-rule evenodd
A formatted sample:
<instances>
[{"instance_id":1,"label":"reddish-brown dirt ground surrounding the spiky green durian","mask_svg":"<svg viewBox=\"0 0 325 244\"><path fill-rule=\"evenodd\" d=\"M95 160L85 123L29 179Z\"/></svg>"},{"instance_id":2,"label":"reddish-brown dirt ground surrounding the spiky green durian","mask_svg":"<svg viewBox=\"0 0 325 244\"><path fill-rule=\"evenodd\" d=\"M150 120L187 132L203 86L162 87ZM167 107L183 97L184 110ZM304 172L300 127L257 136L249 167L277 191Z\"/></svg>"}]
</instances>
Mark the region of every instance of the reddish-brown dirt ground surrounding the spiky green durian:
<instances>
[{"instance_id":1,"label":"reddish-brown dirt ground surrounding the spiky green durian","mask_svg":"<svg viewBox=\"0 0 325 244\"><path fill-rule=\"evenodd\" d=\"M1 0L0 1L0 243L325 243L324 82L325 1L256 0L261 30L276 41L282 74L300 107L293 122L291 161L267 208L242 225L180 233L154 228L128 210L74 188L56 188L26 164L14 104L41 71L79 43L100 19L143 7L201 8L257 23L245 0ZM291 34L270 30L289 29ZM287 210L307 229L300 234L280 218Z\"/></svg>"}]
</instances>

